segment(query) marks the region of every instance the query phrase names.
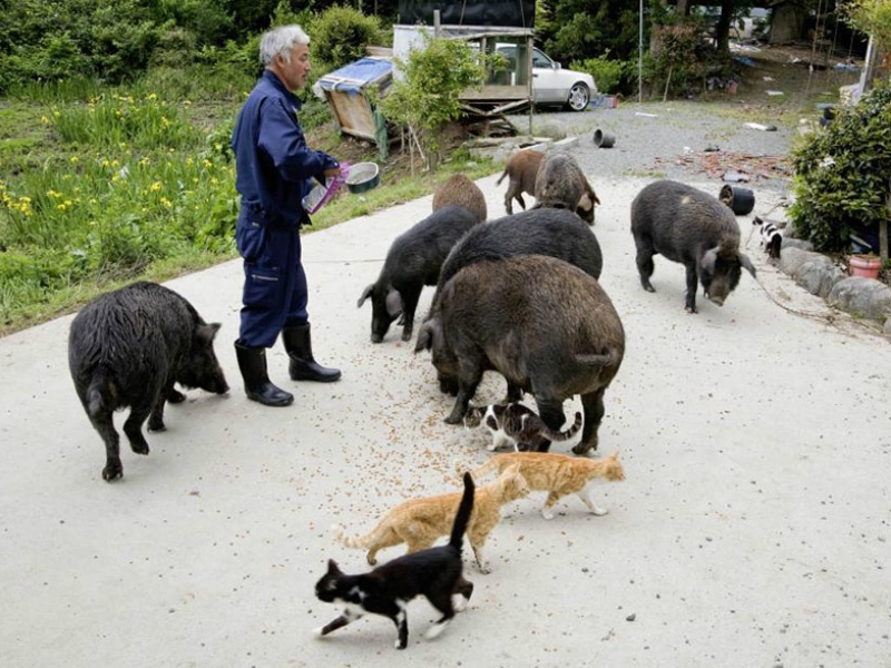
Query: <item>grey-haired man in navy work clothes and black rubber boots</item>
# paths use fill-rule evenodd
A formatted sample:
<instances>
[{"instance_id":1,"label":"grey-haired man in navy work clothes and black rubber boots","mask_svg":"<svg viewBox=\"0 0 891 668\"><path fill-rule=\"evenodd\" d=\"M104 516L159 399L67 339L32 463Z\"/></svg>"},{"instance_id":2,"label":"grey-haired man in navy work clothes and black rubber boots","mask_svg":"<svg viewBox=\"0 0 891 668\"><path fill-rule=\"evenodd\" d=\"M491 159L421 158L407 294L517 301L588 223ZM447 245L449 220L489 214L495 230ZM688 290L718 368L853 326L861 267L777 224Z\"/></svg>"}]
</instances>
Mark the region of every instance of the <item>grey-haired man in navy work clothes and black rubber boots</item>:
<instances>
[{"instance_id":1,"label":"grey-haired man in navy work clothes and black rubber boots","mask_svg":"<svg viewBox=\"0 0 891 668\"><path fill-rule=\"evenodd\" d=\"M294 381L332 382L336 369L313 358L306 313L306 274L300 228L310 224L301 204L313 179L340 174L337 160L311 150L297 120L301 100L292 92L306 84L310 38L300 26L266 32L260 42L263 76L247 97L235 130L235 186L242 209L235 242L244 258L242 323L235 352L247 397L286 406L294 395L275 386L266 371L266 348L278 333Z\"/></svg>"}]
</instances>

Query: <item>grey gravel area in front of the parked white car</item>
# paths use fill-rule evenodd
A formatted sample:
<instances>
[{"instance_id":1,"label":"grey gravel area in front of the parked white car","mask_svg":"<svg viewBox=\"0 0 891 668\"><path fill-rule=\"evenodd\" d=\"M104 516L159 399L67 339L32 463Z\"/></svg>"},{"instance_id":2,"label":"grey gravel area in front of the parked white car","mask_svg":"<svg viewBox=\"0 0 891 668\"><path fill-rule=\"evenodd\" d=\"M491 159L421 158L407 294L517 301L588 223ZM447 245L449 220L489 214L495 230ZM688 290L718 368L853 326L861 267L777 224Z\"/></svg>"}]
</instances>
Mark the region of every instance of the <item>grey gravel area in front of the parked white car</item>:
<instances>
[{"instance_id":1,"label":"grey gravel area in front of the parked white car","mask_svg":"<svg viewBox=\"0 0 891 668\"><path fill-rule=\"evenodd\" d=\"M598 180L633 176L714 181L717 194L726 183L724 175L738 173L747 178L740 185L782 196L792 174L786 156L796 131L776 124L772 112L776 111L765 109L762 117L751 110L686 101L626 104L582 114L537 114L532 132L578 137L579 145L572 154L595 189ZM529 131L528 116L513 116L510 120L520 132ZM777 129L757 130L746 122ZM594 144L597 129L615 136L613 148Z\"/></svg>"}]
</instances>

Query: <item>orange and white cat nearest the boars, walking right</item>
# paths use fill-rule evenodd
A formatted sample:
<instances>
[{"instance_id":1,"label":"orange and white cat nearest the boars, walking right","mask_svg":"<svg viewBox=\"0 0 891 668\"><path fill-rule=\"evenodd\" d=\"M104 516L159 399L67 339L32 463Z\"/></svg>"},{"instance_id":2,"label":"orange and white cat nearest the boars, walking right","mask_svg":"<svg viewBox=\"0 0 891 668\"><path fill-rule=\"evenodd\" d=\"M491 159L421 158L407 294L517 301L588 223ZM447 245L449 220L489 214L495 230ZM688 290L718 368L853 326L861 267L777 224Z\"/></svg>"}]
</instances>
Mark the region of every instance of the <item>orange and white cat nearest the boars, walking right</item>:
<instances>
[{"instance_id":1,"label":"orange and white cat nearest the boars, walking right","mask_svg":"<svg viewBox=\"0 0 891 668\"><path fill-rule=\"evenodd\" d=\"M591 483L596 478L605 478L610 482L625 480L625 469L618 460L617 452L600 460L550 452L506 452L493 455L473 471L472 475L477 480L490 471L501 472L518 464L530 489L550 492L545 501L545 508L541 509L546 520L554 518L550 509L567 494L576 494L594 514L606 514L609 512L607 509L597 508L591 501Z\"/></svg>"}]
</instances>

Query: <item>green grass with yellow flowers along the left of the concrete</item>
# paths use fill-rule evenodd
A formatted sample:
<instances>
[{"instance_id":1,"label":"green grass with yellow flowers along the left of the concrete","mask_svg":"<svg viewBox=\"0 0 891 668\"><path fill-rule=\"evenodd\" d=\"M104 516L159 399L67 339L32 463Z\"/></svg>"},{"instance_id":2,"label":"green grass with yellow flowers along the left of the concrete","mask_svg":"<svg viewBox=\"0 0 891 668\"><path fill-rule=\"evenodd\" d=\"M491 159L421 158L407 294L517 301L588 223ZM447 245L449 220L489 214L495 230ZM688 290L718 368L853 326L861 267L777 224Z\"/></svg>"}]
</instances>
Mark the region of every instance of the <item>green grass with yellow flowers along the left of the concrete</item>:
<instances>
[{"instance_id":1,"label":"green grass with yellow flowers along the left of the concrete","mask_svg":"<svg viewBox=\"0 0 891 668\"><path fill-rule=\"evenodd\" d=\"M165 281L237 257L228 141L249 85L192 101L176 97L188 87L183 77L164 82L156 75L124 89L35 85L0 100L0 335L138 278ZM340 155L337 132L315 135L314 147ZM362 159L375 154L368 146ZM344 189L307 233L428 195L456 171L478 178L495 167L456 151L434 175L403 170L388 163L379 188Z\"/></svg>"}]
</instances>

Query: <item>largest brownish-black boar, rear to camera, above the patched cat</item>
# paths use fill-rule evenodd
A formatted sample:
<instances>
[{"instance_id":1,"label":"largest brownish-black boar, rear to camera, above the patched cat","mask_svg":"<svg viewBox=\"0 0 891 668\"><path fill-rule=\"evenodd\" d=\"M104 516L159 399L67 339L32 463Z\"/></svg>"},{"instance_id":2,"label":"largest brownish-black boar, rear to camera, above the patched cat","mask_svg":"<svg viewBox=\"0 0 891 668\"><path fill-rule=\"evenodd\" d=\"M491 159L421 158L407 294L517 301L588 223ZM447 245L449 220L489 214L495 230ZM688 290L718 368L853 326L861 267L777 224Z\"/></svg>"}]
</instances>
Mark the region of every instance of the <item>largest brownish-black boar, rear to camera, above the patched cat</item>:
<instances>
[{"instance_id":1,"label":"largest brownish-black boar, rear to camera, above the patched cat","mask_svg":"<svg viewBox=\"0 0 891 668\"><path fill-rule=\"evenodd\" d=\"M625 331L600 284L560 259L527 255L481 262L450 278L418 332L415 353L429 350L440 379L458 396L460 423L487 370L501 373L508 394L531 392L541 419L564 424L562 403L581 395L585 426L572 449L597 448L604 392L625 354Z\"/></svg>"}]
</instances>

